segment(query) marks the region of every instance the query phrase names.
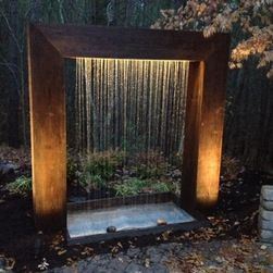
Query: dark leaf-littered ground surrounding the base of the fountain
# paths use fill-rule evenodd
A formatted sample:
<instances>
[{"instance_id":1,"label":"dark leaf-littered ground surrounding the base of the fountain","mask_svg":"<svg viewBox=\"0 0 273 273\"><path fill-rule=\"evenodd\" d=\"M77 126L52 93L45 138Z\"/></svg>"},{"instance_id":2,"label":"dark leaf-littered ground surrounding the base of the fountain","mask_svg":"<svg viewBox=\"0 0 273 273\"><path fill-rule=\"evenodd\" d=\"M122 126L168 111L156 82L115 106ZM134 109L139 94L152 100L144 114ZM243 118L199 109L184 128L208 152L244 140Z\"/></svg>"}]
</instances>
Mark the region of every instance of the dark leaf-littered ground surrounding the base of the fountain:
<instances>
[{"instance_id":1,"label":"dark leaf-littered ground surrounding the base of the fountain","mask_svg":"<svg viewBox=\"0 0 273 273\"><path fill-rule=\"evenodd\" d=\"M20 167L21 173L29 171L24 162ZM38 236L32 198L10 195L5 182L0 183L0 265L4 262L15 272L39 271L44 258L49 269L70 265L64 272L262 272L246 266L269 265L269 247L257 244L260 188L273 184L265 173L245 170L236 179L223 179L218 207L204 213L209 227L71 247L62 233ZM231 258L234 252L238 257Z\"/></svg>"}]
</instances>

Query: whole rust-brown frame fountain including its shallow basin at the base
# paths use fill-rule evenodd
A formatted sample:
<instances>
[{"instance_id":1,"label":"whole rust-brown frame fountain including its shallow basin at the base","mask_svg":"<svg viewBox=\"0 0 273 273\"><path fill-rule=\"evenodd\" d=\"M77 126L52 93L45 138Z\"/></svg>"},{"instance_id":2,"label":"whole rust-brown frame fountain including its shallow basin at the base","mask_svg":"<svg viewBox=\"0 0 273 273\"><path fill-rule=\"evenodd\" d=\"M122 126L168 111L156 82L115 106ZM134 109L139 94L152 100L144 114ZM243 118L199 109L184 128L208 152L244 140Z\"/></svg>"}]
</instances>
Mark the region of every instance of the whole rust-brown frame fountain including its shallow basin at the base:
<instances>
[{"instance_id":1,"label":"whole rust-brown frame fountain including its shallow basin at the base","mask_svg":"<svg viewBox=\"0 0 273 273\"><path fill-rule=\"evenodd\" d=\"M185 229L198 224L193 209L211 207L218 200L228 45L226 34L216 34L207 39L201 33L194 32L30 25L28 66L33 197L37 228L66 228L69 241L83 243L170 228ZM66 206L65 58L77 59L79 64L82 62L87 66L88 59L98 63L112 62L114 65L123 63L124 73L127 73L124 64L136 60L144 60L140 63L147 67L153 62L166 62L167 67L172 67L172 63L187 66L179 197L164 193ZM169 69L166 71L170 72ZM150 83L147 82L147 85ZM148 108L147 111L153 110ZM86 121L87 133L96 135L97 132L88 124ZM126 134L126 129L122 132ZM148 135L151 137L151 134ZM83 144L83 139L79 141ZM84 142L90 148L90 140L85 139ZM150 142L147 141L147 145ZM131 222L128 226L123 219L132 218L132 213L138 221ZM106 223L104 220L109 218L112 221ZM156 221L160 219L164 220L161 224ZM108 233L111 225L116 231Z\"/></svg>"}]
</instances>

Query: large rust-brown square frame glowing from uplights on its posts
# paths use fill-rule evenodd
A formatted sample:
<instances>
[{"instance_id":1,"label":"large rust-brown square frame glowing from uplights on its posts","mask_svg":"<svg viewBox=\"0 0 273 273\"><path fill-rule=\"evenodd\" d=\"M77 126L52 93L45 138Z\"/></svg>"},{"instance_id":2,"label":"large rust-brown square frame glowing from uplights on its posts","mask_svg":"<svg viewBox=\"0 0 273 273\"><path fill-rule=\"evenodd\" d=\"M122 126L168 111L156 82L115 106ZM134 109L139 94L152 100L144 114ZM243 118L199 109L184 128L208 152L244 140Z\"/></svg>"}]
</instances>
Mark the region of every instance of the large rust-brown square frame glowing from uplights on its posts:
<instances>
[{"instance_id":1,"label":"large rust-brown square frame glowing from uplights on its posts","mask_svg":"<svg viewBox=\"0 0 273 273\"><path fill-rule=\"evenodd\" d=\"M37 228L66 226L64 58L189 60L182 202L218 200L229 36L29 25L33 197Z\"/></svg>"}]
</instances>

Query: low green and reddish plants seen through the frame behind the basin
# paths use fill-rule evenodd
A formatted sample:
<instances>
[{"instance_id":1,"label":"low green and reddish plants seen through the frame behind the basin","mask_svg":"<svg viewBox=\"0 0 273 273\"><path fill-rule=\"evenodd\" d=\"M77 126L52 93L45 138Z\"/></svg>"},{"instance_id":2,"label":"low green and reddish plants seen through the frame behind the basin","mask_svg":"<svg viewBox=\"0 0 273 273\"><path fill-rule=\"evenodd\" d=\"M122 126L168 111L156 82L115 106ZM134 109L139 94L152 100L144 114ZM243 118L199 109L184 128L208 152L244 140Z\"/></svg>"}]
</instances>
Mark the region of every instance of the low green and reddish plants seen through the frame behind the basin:
<instances>
[{"instance_id":1,"label":"low green and reddish plants seen through the frame behind the basin","mask_svg":"<svg viewBox=\"0 0 273 273\"><path fill-rule=\"evenodd\" d=\"M167 169L169 163L159 151L127 154L110 150L90 153L78 161L70 157L67 179L77 181L87 191L111 187L119 196L162 193L174 189L165 177Z\"/></svg>"}]
</instances>

